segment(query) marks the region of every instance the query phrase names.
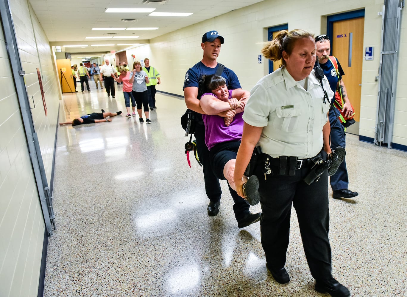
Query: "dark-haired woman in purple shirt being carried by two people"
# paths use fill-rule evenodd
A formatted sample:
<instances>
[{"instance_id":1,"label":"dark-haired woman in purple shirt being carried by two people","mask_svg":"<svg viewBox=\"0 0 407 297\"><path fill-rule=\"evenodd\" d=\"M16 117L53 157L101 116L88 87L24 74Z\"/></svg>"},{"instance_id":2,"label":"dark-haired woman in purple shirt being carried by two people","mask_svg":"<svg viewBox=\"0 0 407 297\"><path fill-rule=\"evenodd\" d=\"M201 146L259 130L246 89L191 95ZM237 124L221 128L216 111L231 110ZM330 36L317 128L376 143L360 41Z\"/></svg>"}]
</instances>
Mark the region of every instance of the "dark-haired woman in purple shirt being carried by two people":
<instances>
[{"instance_id":1,"label":"dark-haired woman in purple shirt being carried by two people","mask_svg":"<svg viewBox=\"0 0 407 297\"><path fill-rule=\"evenodd\" d=\"M204 75L202 84L204 92L207 92L200 99L201 108L206 113L202 114L205 143L215 176L228 181L233 197L236 195L234 166L243 133L242 115L250 93L243 89L228 90L225 80L218 75ZM225 111L230 111L225 118L217 115ZM256 176L249 179L243 176L242 181L245 183L245 199L251 205L257 204L260 201L258 179Z\"/></svg>"}]
</instances>

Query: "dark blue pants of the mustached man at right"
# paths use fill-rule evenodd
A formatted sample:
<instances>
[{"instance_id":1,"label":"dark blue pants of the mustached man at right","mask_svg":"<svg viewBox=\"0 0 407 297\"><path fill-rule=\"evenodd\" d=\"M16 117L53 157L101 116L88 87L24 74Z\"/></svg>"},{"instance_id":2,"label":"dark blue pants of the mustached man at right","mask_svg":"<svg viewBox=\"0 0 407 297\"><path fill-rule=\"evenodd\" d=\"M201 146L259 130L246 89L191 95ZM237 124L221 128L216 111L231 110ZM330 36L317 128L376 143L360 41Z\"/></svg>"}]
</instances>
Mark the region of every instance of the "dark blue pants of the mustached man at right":
<instances>
[{"instance_id":1,"label":"dark blue pants of the mustached man at right","mask_svg":"<svg viewBox=\"0 0 407 297\"><path fill-rule=\"evenodd\" d=\"M333 108L329 110L329 123L331 126L330 141L332 149L335 150L337 146L346 147L345 141L345 129L341 122L336 120L338 118L339 111L334 112ZM348 189L348 170L346 169L346 161L344 160L341 165L339 165L336 173L330 177L330 185L333 191Z\"/></svg>"}]
</instances>

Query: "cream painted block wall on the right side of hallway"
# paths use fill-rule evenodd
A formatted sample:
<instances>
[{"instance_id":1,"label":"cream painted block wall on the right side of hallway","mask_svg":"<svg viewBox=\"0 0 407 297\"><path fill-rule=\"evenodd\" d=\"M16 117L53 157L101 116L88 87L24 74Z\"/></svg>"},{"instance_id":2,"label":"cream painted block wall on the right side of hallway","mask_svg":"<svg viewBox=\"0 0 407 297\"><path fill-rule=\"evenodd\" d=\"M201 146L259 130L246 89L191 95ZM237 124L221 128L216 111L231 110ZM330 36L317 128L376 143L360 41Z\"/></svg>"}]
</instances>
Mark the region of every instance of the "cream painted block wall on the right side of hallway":
<instances>
[{"instance_id":1,"label":"cream painted block wall on the right side of hallway","mask_svg":"<svg viewBox=\"0 0 407 297\"><path fill-rule=\"evenodd\" d=\"M377 113L378 75L381 42L381 15L383 0L325 0L319 2L298 0L266 0L258 4L226 13L219 17L188 26L150 40L150 44L127 51L136 57L150 58L159 69L162 84L158 90L183 95L184 75L189 67L201 60L202 34L218 30L225 44L218 62L233 69L243 88L250 90L268 73L267 60L257 63L263 41L267 41L267 28L289 24L289 30L302 28L315 34L326 33L326 16L357 9L365 9L363 47L374 46L374 60L363 61L361 87L361 114L359 133L374 138ZM400 60L398 65L396 111L393 142L407 145L407 10L402 10Z\"/></svg>"}]
</instances>

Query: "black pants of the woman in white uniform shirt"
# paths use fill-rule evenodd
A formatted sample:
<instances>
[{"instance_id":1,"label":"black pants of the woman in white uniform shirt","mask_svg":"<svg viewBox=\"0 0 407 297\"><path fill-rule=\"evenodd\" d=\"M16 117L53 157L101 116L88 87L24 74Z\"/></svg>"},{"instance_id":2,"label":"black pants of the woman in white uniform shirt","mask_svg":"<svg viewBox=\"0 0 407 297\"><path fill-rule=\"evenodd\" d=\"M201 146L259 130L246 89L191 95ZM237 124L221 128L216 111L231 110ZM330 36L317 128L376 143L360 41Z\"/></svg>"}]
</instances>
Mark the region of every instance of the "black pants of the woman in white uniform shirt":
<instances>
[{"instance_id":1,"label":"black pants of the woman in white uniform shirt","mask_svg":"<svg viewBox=\"0 0 407 297\"><path fill-rule=\"evenodd\" d=\"M267 176L263 157L255 173L260 180L261 244L269 268L284 267L290 236L291 204L295 207L304 252L312 276L328 283L331 275L331 250L328 239L328 172L318 182L307 185L303 179L311 165L295 171L295 176ZM277 168L270 166L274 174Z\"/></svg>"}]
</instances>

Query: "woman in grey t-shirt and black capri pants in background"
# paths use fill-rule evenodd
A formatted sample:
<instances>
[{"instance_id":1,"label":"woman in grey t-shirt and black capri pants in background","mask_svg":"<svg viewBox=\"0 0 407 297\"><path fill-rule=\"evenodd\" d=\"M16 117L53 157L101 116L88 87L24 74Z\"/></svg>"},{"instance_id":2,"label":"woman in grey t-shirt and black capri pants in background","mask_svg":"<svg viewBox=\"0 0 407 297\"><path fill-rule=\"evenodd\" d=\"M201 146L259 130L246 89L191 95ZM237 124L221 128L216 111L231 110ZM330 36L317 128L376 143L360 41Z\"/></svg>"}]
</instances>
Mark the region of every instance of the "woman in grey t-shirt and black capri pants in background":
<instances>
[{"instance_id":1,"label":"woman in grey t-shirt and black capri pants in background","mask_svg":"<svg viewBox=\"0 0 407 297\"><path fill-rule=\"evenodd\" d=\"M133 63L133 71L130 73L129 82L133 84L132 93L134 99L136 100L137 113L140 123L144 122L141 113L141 105L143 105L144 108L146 123L151 123L151 120L149 119L149 95L146 86L146 83L148 84L150 80L147 73L142 70L141 63L139 61L135 61Z\"/></svg>"}]
</instances>

